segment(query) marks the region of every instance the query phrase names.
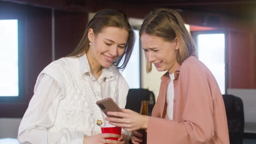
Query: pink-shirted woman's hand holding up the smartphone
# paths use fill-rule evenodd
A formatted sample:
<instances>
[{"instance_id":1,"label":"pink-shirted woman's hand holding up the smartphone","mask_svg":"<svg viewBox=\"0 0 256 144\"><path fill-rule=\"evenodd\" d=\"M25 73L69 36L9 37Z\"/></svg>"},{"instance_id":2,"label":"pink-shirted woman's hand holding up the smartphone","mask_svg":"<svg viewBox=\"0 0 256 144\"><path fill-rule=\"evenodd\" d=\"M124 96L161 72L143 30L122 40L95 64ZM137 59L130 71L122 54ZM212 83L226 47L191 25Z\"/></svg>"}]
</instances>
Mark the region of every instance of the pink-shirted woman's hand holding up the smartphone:
<instances>
[{"instance_id":1,"label":"pink-shirted woman's hand holding up the smartphone","mask_svg":"<svg viewBox=\"0 0 256 144\"><path fill-rule=\"evenodd\" d=\"M128 109L122 109L123 112L108 112L110 116L121 118L107 117L109 124L117 127L123 127L127 131L148 128L148 116L139 115L137 112Z\"/></svg>"}]
</instances>

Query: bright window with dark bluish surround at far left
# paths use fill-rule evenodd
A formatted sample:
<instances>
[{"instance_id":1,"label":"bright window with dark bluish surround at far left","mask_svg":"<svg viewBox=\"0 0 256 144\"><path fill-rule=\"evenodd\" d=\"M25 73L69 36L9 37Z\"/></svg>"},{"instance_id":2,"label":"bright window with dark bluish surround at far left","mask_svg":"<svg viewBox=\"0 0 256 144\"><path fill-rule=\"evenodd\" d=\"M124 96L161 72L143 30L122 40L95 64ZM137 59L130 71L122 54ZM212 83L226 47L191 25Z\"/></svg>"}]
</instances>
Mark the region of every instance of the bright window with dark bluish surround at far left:
<instances>
[{"instance_id":1,"label":"bright window with dark bluish surround at far left","mask_svg":"<svg viewBox=\"0 0 256 144\"><path fill-rule=\"evenodd\" d=\"M8 10L5 12L0 13L0 118L22 117L28 104L24 17L15 12L11 15Z\"/></svg>"}]
</instances>

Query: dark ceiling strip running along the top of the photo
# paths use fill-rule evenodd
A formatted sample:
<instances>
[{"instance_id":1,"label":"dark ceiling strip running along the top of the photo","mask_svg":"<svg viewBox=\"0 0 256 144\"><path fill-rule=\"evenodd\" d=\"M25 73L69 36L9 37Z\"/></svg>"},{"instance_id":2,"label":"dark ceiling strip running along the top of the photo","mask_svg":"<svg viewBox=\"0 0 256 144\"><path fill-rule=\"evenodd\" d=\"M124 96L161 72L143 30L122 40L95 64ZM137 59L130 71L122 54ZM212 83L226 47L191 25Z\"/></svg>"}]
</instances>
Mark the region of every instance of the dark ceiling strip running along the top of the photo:
<instances>
[{"instance_id":1,"label":"dark ceiling strip running along the top of the photo","mask_svg":"<svg viewBox=\"0 0 256 144\"><path fill-rule=\"evenodd\" d=\"M168 7L195 13L210 13L234 17L256 23L256 0L0 0L15 3L31 4L48 8L86 11L95 5L140 5L140 7Z\"/></svg>"}]
</instances>

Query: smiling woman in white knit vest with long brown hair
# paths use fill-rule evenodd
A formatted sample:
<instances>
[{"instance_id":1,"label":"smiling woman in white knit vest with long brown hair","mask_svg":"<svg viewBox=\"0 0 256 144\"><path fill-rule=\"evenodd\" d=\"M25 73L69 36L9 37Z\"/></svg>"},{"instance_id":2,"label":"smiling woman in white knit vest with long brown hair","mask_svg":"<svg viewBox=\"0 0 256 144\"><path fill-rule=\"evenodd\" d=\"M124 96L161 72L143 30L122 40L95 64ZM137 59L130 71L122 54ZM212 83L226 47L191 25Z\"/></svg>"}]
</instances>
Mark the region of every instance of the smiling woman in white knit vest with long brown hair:
<instances>
[{"instance_id":1,"label":"smiling woman in white knit vest with long brown hair","mask_svg":"<svg viewBox=\"0 0 256 144\"><path fill-rule=\"evenodd\" d=\"M129 89L125 69L135 35L123 11L98 11L77 48L39 74L34 95L22 118L20 143L125 143L123 134L101 134L106 125L96 101L112 98L125 107ZM107 140L119 137L119 141Z\"/></svg>"}]
</instances>

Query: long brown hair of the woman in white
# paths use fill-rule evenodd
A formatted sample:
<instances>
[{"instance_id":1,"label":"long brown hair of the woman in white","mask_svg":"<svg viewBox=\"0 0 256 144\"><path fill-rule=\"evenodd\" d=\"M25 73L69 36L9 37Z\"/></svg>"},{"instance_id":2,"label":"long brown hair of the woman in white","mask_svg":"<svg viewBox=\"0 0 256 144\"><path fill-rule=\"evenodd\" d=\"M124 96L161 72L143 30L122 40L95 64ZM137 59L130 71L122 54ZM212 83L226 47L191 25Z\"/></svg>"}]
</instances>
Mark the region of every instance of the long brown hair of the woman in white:
<instances>
[{"instance_id":1,"label":"long brown hair of the woman in white","mask_svg":"<svg viewBox=\"0 0 256 144\"><path fill-rule=\"evenodd\" d=\"M110 26L124 28L129 33L127 45L123 55L121 55L114 62L118 69L124 70L131 57L135 41L135 34L131 29L127 15L123 11L117 9L103 9L98 11L98 13L96 13L95 16L89 21L83 38L80 40L75 50L67 57L80 57L84 55L84 53L88 52L90 43L88 39L88 31L90 28L92 28L94 30L94 34L97 35L104 27Z\"/></svg>"}]
</instances>

